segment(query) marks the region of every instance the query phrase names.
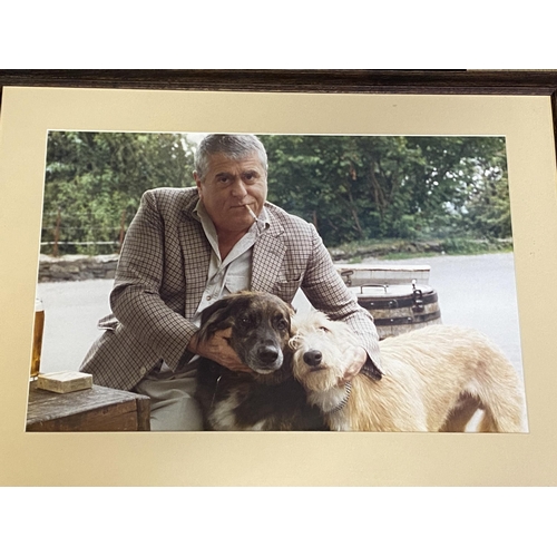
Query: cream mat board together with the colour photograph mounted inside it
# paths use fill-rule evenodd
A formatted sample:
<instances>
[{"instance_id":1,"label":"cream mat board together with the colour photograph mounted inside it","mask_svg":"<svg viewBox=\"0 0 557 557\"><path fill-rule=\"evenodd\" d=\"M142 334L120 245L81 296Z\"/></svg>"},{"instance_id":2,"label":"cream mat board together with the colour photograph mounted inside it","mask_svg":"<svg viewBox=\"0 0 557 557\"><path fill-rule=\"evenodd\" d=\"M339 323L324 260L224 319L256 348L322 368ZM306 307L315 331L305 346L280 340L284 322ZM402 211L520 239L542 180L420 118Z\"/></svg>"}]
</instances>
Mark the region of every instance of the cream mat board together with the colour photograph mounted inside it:
<instances>
[{"instance_id":1,"label":"cream mat board together with the colour photograph mounted inside it","mask_svg":"<svg viewBox=\"0 0 557 557\"><path fill-rule=\"evenodd\" d=\"M553 483L553 134L543 95L4 87L2 481Z\"/></svg>"}]
</instances>

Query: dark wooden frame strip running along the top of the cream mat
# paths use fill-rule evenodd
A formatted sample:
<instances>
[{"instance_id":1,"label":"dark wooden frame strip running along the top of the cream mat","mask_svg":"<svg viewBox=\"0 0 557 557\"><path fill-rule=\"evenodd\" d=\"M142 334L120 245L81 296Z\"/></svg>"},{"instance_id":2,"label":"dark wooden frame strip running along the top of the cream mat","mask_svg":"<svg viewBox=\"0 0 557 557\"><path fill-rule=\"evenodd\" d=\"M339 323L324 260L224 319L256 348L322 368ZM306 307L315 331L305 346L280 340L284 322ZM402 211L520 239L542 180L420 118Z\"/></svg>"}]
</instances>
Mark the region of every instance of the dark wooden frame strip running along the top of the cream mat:
<instances>
[{"instance_id":1,"label":"dark wooden frame strip running along the top of the cream mat","mask_svg":"<svg viewBox=\"0 0 557 557\"><path fill-rule=\"evenodd\" d=\"M0 70L0 86L554 95L557 70Z\"/></svg>"}]
</instances>

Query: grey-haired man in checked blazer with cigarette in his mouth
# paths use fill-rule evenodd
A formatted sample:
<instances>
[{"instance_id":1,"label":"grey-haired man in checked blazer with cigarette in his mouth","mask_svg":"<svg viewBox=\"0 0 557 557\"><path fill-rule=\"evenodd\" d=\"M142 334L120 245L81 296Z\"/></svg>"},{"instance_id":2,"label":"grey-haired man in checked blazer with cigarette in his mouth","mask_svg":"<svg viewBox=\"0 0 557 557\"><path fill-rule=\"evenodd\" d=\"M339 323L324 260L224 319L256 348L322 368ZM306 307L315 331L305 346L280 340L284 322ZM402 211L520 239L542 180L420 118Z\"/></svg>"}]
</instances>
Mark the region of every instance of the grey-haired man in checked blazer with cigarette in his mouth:
<instances>
[{"instance_id":1,"label":"grey-haired man in checked blazer with cigarette in his mouth","mask_svg":"<svg viewBox=\"0 0 557 557\"><path fill-rule=\"evenodd\" d=\"M346 353L348 380L381 378L378 334L333 267L313 225L268 203L267 157L251 135L209 135L196 152L197 187L147 190L124 243L110 294L113 314L81 371L97 384L152 399L152 429L199 430L192 398L196 360L247 372L222 335L198 342L201 312L240 290L312 305L361 338Z\"/></svg>"}]
</instances>

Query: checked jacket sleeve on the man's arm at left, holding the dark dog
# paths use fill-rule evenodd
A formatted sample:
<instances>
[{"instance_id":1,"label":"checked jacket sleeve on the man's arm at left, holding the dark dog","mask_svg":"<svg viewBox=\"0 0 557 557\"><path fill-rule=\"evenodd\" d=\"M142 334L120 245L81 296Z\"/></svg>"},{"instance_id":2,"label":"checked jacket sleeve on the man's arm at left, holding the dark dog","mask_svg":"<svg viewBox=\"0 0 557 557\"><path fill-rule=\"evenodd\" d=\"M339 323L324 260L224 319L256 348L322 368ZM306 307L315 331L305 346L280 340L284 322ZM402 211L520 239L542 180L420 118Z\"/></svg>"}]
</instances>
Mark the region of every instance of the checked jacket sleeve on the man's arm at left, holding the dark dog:
<instances>
[{"instance_id":1,"label":"checked jacket sleeve on the man's arm at left, holding the dark dog","mask_svg":"<svg viewBox=\"0 0 557 557\"><path fill-rule=\"evenodd\" d=\"M177 369L197 328L160 296L165 247L164 218L148 190L126 233L110 306L121 325Z\"/></svg>"}]
</instances>

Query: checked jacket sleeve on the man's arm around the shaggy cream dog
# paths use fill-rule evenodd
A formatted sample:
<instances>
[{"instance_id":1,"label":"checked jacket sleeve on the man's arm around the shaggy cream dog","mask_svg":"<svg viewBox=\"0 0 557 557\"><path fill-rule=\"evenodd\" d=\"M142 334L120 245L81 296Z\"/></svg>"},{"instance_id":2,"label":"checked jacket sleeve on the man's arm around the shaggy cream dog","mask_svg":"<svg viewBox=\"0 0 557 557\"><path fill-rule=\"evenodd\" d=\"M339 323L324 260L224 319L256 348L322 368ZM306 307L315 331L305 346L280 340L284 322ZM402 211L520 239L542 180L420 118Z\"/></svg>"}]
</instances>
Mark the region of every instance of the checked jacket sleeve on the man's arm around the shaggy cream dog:
<instances>
[{"instance_id":1,"label":"checked jacket sleeve on the man's arm around the shaggy cream dog","mask_svg":"<svg viewBox=\"0 0 557 557\"><path fill-rule=\"evenodd\" d=\"M373 317L364 307L359 305L355 294L346 287L334 268L331 255L323 245L323 241L315 227L310 226L312 252L302 282L302 290L316 310L326 313L332 320L342 320L352 328L369 356L362 371L375 378L381 378L379 335Z\"/></svg>"}]
</instances>

